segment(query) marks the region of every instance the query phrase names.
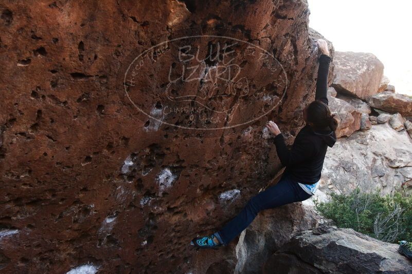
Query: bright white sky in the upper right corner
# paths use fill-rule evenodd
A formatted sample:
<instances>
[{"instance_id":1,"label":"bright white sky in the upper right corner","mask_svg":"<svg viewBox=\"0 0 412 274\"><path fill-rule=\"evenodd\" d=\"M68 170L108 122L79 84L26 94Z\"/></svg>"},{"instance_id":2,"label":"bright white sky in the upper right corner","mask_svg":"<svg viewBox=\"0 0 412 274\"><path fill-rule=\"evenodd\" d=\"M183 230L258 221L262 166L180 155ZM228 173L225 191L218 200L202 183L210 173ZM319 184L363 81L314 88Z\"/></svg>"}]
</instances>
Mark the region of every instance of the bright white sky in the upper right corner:
<instances>
[{"instance_id":1,"label":"bright white sky in the upper right corner","mask_svg":"<svg viewBox=\"0 0 412 274\"><path fill-rule=\"evenodd\" d=\"M308 0L309 27L336 51L370 52L396 93L412 95L412 1Z\"/></svg>"}]
</instances>

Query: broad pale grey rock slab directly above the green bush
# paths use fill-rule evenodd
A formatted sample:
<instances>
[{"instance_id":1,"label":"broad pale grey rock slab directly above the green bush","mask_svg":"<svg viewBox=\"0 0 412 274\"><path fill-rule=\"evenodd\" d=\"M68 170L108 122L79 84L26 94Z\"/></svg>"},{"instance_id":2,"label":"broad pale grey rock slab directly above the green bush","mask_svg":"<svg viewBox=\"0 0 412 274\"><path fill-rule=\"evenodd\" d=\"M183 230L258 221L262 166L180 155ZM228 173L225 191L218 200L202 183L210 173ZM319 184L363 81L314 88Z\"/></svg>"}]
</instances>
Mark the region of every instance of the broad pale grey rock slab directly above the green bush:
<instances>
[{"instance_id":1,"label":"broad pale grey rock slab directly above the green bush","mask_svg":"<svg viewBox=\"0 0 412 274\"><path fill-rule=\"evenodd\" d=\"M346 192L359 186L393 194L412 183L412 140L389 123L340 138L326 153L319 189ZM333 186L333 187L332 187ZM409 187L409 188L408 188Z\"/></svg>"}]
</instances>

